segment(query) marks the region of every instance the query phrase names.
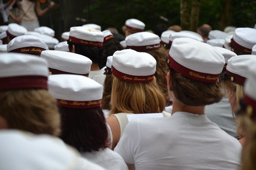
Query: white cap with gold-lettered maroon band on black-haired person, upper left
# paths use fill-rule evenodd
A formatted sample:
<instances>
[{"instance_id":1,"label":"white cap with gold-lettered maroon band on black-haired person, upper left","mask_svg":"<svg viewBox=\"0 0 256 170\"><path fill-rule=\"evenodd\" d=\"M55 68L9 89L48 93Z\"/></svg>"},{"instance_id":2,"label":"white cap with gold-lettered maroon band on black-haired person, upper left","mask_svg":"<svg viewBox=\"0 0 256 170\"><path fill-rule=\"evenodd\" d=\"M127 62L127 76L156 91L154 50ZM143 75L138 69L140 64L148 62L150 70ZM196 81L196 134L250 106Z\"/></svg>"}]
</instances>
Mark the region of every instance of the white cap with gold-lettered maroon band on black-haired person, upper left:
<instances>
[{"instance_id":1,"label":"white cap with gold-lettered maroon band on black-haired person, upper left","mask_svg":"<svg viewBox=\"0 0 256 170\"><path fill-rule=\"evenodd\" d=\"M102 47L104 34L94 28L80 26L69 32L69 41L92 47Z\"/></svg>"}]
</instances>

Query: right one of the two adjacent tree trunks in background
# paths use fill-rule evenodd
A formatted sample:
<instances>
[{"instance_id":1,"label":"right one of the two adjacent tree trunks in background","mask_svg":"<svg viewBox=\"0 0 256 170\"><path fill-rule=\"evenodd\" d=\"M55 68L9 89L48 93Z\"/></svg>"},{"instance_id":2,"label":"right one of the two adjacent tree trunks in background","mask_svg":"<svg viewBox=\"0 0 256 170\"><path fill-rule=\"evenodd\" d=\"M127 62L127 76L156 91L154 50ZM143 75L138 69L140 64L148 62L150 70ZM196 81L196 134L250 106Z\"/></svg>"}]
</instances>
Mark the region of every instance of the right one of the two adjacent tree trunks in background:
<instances>
[{"instance_id":1,"label":"right one of the two adjacent tree trunks in background","mask_svg":"<svg viewBox=\"0 0 256 170\"><path fill-rule=\"evenodd\" d=\"M190 15L190 31L197 31L201 0L193 0Z\"/></svg>"}]
</instances>

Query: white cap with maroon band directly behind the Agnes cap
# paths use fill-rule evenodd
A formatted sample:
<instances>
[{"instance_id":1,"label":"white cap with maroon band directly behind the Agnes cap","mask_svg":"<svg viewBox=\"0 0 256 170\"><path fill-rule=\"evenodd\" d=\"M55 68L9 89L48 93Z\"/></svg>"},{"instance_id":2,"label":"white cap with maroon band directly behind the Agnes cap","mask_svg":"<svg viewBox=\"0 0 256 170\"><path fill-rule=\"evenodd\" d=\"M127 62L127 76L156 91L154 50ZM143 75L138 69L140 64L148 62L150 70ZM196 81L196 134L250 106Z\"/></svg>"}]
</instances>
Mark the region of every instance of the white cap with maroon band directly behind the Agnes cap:
<instances>
[{"instance_id":1,"label":"white cap with maroon band directly behind the Agnes cap","mask_svg":"<svg viewBox=\"0 0 256 170\"><path fill-rule=\"evenodd\" d=\"M160 37L150 32L137 32L125 37L127 49L148 51L160 48Z\"/></svg>"}]
</instances>

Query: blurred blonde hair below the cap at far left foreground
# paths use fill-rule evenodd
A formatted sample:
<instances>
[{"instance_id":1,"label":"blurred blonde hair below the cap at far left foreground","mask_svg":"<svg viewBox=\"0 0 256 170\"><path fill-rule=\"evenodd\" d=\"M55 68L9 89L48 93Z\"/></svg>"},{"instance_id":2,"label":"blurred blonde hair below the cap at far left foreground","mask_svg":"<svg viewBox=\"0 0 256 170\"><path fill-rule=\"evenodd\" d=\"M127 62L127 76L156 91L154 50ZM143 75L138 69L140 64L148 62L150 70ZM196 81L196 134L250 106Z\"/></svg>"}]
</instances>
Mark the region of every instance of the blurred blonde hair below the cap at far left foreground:
<instances>
[{"instance_id":1,"label":"blurred blonde hair below the cap at far left foreground","mask_svg":"<svg viewBox=\"0 0 256 170\"><path fill-rule=\"evenodd\" d=\"M0 92L0 115L8 128L58 136L60 115L56 100L45 89Z\"/></svg>"}]
</instances>

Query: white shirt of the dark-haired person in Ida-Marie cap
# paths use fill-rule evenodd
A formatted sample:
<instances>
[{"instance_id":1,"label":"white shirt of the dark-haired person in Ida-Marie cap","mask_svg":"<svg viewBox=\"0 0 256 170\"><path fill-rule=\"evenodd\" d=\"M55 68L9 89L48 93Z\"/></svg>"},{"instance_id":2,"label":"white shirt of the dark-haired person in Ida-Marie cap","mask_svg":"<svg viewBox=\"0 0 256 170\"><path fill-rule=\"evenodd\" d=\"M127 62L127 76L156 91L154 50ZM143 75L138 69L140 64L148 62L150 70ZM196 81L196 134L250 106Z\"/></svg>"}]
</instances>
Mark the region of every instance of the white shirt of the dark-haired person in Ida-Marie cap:
<instances>
[{"instance_id":1,"label":"white shirt of the dark-haired person in Ida-Marie cap","mask_svg":"<svg viewBox=\"0 0 256 170\"><path fill-rule=\"evenodd\" d=\"M82 153L82 157L106 168L107 170L128 170L123 158L111 149Z\"/></svg>"}]
</instances>

